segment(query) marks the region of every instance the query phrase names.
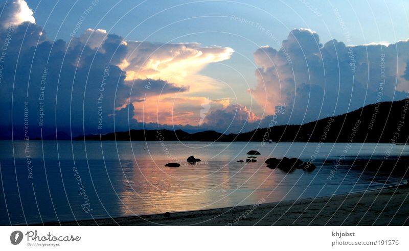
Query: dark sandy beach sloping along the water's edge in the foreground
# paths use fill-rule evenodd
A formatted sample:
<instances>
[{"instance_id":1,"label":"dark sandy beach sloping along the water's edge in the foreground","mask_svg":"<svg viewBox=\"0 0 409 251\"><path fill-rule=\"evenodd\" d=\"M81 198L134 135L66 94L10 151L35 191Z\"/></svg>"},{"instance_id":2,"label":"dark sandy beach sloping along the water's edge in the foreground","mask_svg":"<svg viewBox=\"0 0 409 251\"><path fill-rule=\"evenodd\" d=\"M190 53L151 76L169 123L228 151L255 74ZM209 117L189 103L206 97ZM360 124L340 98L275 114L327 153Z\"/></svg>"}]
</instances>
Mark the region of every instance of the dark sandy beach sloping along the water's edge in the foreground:
<instances>
[{"instance_id":1,"label":"dark sandy beach sloping along the water's edge in the foreground","mask_svg":"<svg viewBox=\"0 0 409 251\"><path fill-rule=\"evenodd\" d=\"M409 186L191 212L62 222L62 225L409 225ZM49 225L59 225L50 223Z\"/></svg>"}]
</instances>

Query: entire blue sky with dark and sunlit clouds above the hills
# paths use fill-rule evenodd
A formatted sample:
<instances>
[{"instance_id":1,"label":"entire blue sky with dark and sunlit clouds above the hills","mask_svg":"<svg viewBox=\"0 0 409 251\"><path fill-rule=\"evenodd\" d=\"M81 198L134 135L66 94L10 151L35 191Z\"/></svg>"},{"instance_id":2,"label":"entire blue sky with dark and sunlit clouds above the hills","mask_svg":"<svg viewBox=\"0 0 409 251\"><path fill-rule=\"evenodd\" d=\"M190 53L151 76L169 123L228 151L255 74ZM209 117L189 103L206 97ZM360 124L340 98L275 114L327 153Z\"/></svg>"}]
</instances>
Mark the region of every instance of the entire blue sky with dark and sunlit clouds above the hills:
<instances>
[{"instance_id":1,"label":"entire blue sky with dark and sunlit clouds above the hills","mask_svg":"<svg viewBox=\"0 0 409 251\"><path fill-rule=\"evenodd\" d=\"M0 6L2 128L24 125L28 102L33 132L238 133L408 92L407 1Z\"/></svg>"}]
</instances>

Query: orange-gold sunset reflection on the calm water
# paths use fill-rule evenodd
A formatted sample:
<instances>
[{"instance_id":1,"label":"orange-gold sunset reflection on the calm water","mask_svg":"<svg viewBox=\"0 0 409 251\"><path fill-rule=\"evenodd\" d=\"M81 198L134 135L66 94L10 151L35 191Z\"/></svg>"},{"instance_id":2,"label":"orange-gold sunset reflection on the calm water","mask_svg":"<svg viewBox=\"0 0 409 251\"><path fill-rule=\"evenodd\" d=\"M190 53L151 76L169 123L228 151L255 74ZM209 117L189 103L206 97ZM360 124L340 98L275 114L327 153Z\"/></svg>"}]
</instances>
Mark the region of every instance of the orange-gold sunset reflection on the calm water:
<instances>
[{"instance_id":1,"label":"orange-gold sunset reflection on the calm water","mask_svg":"<svg viewBox=\"0 0 409 251\"><path fill-rule=\"evenodd\" d=\"M123 214L249 205L267 199L277 184L274 172L261 164L222 165L220 161L210 161L171 168L165 167L165 162L134 162L132 174L127 177L132 184L120 193ZM277 197L278 193L274 194Z\"/></svg>"}]
</instances>

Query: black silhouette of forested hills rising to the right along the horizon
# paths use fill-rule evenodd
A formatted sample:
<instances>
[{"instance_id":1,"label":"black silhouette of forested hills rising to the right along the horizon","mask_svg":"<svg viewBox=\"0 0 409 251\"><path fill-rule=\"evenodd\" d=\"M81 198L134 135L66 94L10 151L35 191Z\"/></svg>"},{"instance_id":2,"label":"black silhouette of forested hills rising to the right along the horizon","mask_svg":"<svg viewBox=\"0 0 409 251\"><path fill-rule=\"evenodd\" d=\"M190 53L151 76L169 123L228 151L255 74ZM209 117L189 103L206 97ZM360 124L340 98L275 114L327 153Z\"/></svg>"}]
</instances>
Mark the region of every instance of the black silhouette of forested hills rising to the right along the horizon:
<instances>
[{"instance_id":1,"label":"black silhouette of forested hills rising to the right along the horizon","mask_svg":"<svg viewBox=\"0 0 409 251\"><path fill-rule=\"evenodd\" d=\"M148 141L325 141L406 143L409 136L409 98L381 102L343 115L302 125L278 125L251 132L225 135L215 131L187 133L182 130L130 130L105 135L86 135L77 140Z\"/></svg>"}]
</instances>

